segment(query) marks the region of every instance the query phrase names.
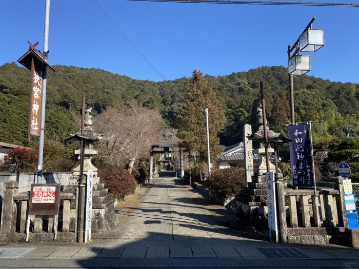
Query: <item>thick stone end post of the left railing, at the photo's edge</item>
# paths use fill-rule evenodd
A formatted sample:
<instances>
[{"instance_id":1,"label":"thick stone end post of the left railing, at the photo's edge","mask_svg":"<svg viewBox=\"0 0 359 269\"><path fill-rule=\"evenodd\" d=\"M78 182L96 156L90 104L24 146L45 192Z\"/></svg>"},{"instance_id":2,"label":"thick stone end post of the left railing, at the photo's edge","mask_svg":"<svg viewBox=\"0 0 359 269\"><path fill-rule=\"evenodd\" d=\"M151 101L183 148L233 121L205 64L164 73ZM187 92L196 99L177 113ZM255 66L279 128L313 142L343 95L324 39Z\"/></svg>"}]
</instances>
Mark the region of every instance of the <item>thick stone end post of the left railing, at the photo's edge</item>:
<instances>
[{"instance_id":1,"label":"thick stone end post of the left railing, at the photo's edge","mask_svg":"<svg viewBox=\"0 0 359 269\"><path fill-rule=\"evenodd\" d=\"M10 236L16 232L17 204L13 198L18 194L18 182L4 182L4 188L0 234Z\"/></svg>"}]
</instances>

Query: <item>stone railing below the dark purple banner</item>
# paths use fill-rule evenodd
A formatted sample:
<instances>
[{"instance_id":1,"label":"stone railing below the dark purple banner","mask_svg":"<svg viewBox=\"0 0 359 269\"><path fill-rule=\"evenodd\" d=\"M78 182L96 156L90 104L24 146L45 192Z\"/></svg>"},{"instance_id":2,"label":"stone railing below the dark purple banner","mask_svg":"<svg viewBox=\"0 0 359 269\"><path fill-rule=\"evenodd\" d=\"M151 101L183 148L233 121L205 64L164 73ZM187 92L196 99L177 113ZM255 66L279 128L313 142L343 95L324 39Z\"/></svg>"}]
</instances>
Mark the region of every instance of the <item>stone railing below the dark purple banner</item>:
<instances>
[{"instance_id":1,"label":"stone railing below the dark purple banner","mask_svg":"<svg viewBox=\"0 0 359 269\"><path fill-rule=\"evenodd\" d=\"M331 227L347 227L342 179L335 180L336 190L318 187L316 193L312 189L287 189L287 182L278 182L278 208L283 242L288 241L288 235L307 236L322 233L324 236L324 231ZM301 231L298 232L299 230Z\"/></svg>"}]
</instances>

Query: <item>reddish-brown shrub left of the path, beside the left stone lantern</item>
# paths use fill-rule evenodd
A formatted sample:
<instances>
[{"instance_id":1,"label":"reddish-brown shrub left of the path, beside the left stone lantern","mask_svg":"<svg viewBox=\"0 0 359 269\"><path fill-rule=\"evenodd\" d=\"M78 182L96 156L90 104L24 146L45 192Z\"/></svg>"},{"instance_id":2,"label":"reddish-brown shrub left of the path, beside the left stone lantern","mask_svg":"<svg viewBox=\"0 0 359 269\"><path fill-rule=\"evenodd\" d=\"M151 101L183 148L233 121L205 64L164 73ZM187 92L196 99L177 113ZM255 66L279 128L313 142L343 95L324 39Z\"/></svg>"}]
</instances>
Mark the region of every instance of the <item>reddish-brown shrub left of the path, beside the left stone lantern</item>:
<instances>
[{"instance_id":1,"label":"reddish-brown shrub left of the path, beside the left stone lantern","mask_svg":"<svg viewBox=\"0 0 359 269\"><path fill-rule=\"evenodd\" d=\"M100 182L105 183L105 188L109 189L114 198L125 198L127 195L134 194L136 180L129 171L112 165L100 165L97 173Z\"/></svg>"}]
</instances>

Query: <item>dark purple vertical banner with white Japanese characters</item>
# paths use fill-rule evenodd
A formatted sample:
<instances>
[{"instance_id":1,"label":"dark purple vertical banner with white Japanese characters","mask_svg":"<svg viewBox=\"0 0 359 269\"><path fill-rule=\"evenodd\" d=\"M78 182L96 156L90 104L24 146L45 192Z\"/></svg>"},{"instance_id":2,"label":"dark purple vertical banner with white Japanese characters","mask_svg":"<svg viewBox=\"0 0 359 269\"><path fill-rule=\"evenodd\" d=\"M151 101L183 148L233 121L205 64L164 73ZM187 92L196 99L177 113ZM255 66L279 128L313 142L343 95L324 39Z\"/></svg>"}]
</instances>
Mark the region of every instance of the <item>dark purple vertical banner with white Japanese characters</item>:
<instances>
[{"instance_id":1,"label":"dark purple vertical banner with white Japanese characters","mask_svg":"<svg viewBox=\"0 0 359 269\"><path fill-rule=\"evenodd\" d=\"M288 126L290 164L293 186L313 187L312 155L310 151L309 125Z\"/></svg>"}]
</instances>

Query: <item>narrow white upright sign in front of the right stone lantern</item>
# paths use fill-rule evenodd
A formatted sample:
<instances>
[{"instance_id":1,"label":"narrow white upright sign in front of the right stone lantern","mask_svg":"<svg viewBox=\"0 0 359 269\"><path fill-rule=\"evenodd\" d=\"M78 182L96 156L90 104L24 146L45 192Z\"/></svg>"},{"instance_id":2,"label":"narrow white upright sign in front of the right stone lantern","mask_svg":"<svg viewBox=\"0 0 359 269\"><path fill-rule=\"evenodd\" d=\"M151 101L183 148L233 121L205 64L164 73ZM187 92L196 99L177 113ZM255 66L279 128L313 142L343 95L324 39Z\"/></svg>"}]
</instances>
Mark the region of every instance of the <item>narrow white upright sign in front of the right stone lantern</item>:
<instances>
[{"instance_id":1,"label":"narrow white upright sign in front of the right stone lantern","mask_svg":"<svg viewBox=\"0 0 359 269\"><path fill-rule=\"evenodd\" d=\"M278 242L278 228L275 202L274 172L266 172L268 227L275 232L275 242ZM271 234L269 234L271 236Z\"/></svg>"}]
</instances>

